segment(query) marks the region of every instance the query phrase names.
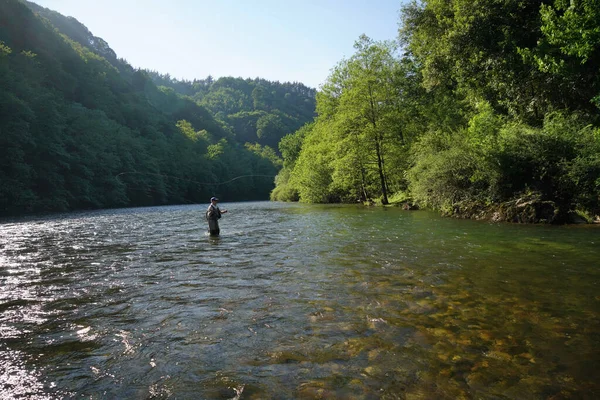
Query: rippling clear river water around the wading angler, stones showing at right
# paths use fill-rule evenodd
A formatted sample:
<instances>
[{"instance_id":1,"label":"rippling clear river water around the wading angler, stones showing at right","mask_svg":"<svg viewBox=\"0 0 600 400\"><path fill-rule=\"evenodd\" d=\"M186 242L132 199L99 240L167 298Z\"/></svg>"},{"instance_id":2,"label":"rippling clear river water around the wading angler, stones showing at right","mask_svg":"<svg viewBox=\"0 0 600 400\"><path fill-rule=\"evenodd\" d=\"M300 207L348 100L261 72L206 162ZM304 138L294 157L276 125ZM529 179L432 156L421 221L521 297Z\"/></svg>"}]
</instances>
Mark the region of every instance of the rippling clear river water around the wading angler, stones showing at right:
<instances>
[{"instance_id":1,"label":"rippling clear river water around the wading angler, stones showing at right","mask_svg":"<svg viewBox=\"0 0 600 400\"><path fill-rule=\"evenodd\" d=\"M600 397L598 226L205 208L0 223L0 398Z\"/></svg>"}]
</instances>

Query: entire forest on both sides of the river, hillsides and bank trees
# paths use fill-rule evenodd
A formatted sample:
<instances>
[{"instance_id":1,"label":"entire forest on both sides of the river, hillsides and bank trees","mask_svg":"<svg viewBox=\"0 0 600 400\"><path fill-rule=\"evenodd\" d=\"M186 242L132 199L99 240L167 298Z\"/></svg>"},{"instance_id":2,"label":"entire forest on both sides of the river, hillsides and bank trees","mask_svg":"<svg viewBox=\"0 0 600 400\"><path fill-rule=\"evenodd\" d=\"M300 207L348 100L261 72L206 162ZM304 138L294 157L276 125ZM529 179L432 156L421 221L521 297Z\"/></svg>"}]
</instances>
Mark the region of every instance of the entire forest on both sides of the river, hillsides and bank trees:
<instances>
[{"instance_id":1,"label":"entire forest on both sides of the river, hillsides and bank trees","mask_svg":"<svg viewBox=\"0 0 600 400\"><path fill-rule=\"evenodd\" d=\"M319 90L181 81L2 0L0 215L218 195L598 222L600 0L412 1L354 48Z\"/></svg>"}]
</instances>

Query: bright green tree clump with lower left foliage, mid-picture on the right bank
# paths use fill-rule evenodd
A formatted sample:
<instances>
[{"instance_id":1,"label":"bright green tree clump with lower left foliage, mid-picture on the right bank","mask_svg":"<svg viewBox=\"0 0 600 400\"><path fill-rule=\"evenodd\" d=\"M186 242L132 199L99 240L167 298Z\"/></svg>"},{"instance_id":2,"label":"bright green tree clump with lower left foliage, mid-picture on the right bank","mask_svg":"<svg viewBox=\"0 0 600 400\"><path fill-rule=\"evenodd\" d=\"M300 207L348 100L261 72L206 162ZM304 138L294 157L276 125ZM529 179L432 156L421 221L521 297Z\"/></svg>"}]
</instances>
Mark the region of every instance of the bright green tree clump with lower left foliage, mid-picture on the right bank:
<instances>
[{"instance_id":1,"label":"bright green tree clump with lower left foliage, mid-picture on the right bank","mask_svg":"<svg viewBox=\"0 0 600 400\"><path fill-rule=\"evenodd\" d=\"M400 189L398 177L414 136L410 121L418 114L411 96L421 92L419 75L391 42L363 35L355 49L318 93L318 117L308 132L302 131L300 154L297 138L280 145L286 166L290 158L297 160L281 183L296 188L303 201L379 198L387 204L390 187Z\"/></svg>"}]
</instances>

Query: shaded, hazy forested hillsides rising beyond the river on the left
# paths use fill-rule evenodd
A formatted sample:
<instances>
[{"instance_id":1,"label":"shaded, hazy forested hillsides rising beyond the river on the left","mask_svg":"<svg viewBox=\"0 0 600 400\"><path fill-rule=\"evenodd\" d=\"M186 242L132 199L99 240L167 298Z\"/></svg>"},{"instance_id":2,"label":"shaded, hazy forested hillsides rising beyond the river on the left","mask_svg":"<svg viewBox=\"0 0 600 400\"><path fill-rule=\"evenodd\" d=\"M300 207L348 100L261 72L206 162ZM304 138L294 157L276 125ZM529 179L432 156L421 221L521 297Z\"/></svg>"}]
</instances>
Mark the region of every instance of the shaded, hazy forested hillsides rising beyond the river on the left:
<instances>
[{"instance_id":1,"label":"shaded, hazy forested hillsides rising beyond the river on the left","mask_svg":"<svg viewBox=\"0 0 600 400\"><path fill-rule=\"evenodd\" d=\"M301 83L134 69L72 17L0 1L0 215L268 199Z\"/></svg>"}]
</instances>

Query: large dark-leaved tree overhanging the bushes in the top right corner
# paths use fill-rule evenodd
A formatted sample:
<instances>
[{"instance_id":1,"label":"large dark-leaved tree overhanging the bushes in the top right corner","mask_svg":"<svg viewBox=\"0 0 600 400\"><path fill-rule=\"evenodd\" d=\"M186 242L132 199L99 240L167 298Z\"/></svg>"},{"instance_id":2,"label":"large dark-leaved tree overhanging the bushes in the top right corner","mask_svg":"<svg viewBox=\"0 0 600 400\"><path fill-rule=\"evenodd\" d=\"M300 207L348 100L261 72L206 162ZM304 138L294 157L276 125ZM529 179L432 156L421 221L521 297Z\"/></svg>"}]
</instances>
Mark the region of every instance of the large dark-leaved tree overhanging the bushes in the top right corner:
<instances>
[{"instance_id":1,"label":"large dark-leaved tree overhanging the bushes in the top right corner","mask_svg":"<svg viewBox=\"0 0 600 400\"><path fill-rule=\"evenodd\" d=\"M597 111L597 10L597 0L427 0L404 8L401 35L428 88L541 124L550 111Z\"/></svg>"}]
</instances>

